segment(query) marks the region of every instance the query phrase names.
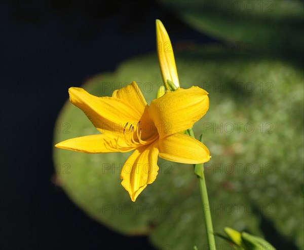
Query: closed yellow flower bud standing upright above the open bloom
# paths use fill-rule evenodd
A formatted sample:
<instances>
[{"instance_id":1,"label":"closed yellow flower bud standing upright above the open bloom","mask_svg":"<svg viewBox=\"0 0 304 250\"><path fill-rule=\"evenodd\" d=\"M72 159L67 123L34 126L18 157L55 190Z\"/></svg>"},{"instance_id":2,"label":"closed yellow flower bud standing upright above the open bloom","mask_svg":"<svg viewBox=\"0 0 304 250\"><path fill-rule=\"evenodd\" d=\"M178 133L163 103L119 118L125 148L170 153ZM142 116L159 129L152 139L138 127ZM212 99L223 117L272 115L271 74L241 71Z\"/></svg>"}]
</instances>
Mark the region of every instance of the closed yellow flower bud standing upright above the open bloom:
<instances>
[{"instance_id":1,"label":"closed yellow flower bud standing upright above the open bloom","mask_svg":"<svg viewBox=\"0 0 304 250\"><path fill-rule=\"evenodd\" d=\"M164 83L166 84L169 80L179 87L171 41L163 23L158 19L156 20L156 43Z\"/></svg>"}]
</instances>

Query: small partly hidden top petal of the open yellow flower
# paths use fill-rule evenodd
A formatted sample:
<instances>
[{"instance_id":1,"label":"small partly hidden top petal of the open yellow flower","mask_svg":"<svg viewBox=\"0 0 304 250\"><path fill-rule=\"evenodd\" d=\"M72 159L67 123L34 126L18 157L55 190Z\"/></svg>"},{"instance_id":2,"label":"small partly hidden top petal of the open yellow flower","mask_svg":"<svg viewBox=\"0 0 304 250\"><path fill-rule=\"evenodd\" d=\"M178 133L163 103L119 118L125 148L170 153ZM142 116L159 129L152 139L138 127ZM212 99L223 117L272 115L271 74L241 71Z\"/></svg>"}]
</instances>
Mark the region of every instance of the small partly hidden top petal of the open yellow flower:
<instances>
[{"instance_id":1,"label":"small partly hidden top petal of the open yellow flower","mask_svg":"<svg viewBox=\"0 0 304 250\"><path fill-rule=\"evenodd\" d=\"M140 114L144 112L147 105L138 85L134 81L122 89L115 90L112 97L122 99L129 106L136 108Z\"/></svg>"}]
</instances>

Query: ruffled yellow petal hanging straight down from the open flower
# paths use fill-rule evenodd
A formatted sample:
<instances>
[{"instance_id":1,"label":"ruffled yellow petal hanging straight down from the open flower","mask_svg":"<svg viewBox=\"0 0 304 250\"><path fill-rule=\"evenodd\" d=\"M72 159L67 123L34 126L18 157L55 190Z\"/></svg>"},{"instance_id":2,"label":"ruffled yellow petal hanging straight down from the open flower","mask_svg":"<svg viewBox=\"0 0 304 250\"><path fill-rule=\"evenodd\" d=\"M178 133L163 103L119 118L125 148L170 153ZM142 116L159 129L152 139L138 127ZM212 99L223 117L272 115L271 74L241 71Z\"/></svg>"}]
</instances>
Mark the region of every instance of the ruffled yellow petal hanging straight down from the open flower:
<instances>
[{"instance_id":1,"label":"ruffled yellow petal hanging straight down from the open flower","mask_svg":"<svg viewBox=\"0 0 304 250\"><path fill-rule=\"evenodd\" d=\"M155 181L159 167L157 141L137 148L122 168L122 185L129 192L132 201L144 190L147 184Z\"/></svg>"}]
</instances>

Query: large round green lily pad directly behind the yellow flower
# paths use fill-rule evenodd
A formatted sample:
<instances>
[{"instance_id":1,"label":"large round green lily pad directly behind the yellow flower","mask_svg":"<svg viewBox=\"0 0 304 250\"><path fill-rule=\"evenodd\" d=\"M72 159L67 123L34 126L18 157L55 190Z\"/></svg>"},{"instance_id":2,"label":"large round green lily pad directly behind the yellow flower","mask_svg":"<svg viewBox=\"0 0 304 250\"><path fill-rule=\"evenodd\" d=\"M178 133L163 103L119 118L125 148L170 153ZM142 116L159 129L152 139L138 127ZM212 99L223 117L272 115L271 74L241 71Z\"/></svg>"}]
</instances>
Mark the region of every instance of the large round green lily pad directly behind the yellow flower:
<instances>
[{"instance_id":1,"label":"large round green lily pad directly behind the yellow flower","mask_svg":"<svg viewBox=\"0 0 304 250\"><path fill-rule=\"evenodd\" d=\"M205 174L214 230L222 232L229 226L265 236L275 246L295 242L303 248L301 69L199 47L175 54L181 86L200 86L209 92L210 109L194 131L196 136L203 133L212 155ZM97 75L82 87L109 96L132 81L148 103L155 98L162 81L156 54L126 61L116 72ZM56 125L54 144L98 133L68 101ZM58 182L75 204L113 230L149 234L158 248L205 249L193 166L159 159L156 181L132 202L120 184L120 170L129 155L54 149ZM269 225L271 231L265 229Z\"/></svg>"}]
</instances>

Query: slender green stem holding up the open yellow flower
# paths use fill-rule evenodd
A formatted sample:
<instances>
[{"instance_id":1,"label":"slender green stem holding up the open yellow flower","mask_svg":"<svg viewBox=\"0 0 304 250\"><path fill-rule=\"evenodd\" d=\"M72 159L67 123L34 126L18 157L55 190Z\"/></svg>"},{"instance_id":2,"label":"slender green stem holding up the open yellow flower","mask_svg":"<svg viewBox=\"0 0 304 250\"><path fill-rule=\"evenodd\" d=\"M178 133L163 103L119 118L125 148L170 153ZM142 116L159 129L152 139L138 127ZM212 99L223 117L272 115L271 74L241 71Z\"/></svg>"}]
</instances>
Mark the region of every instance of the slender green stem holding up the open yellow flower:
<instances>
[{"instance_id":1,"label":"slender green stem holding up the open yellow flower","mask_svg":"<svg viewBox=\"0 0 304 250\"><path fill-rule=\"evenodd\" d=\"M187 131L188 131L189 135L191 135L192 137L195 138L192 128L188 129ZM202 136L200 138L200 141L201 140L202 140ZM205 179L205 175L204 175L204 164L203 163L195 164L194 169L195 169L194 170L195 174L197 175L198 181L199 181L209 250L215 250L216 246L215 246L213 225L212 225L212 219L211 219L211 209L210 209L210 205L209 205L209 198L208 198L208 192L207 192L207 186L206 186L206 179Z\"/></svg>"}]
</instances>

